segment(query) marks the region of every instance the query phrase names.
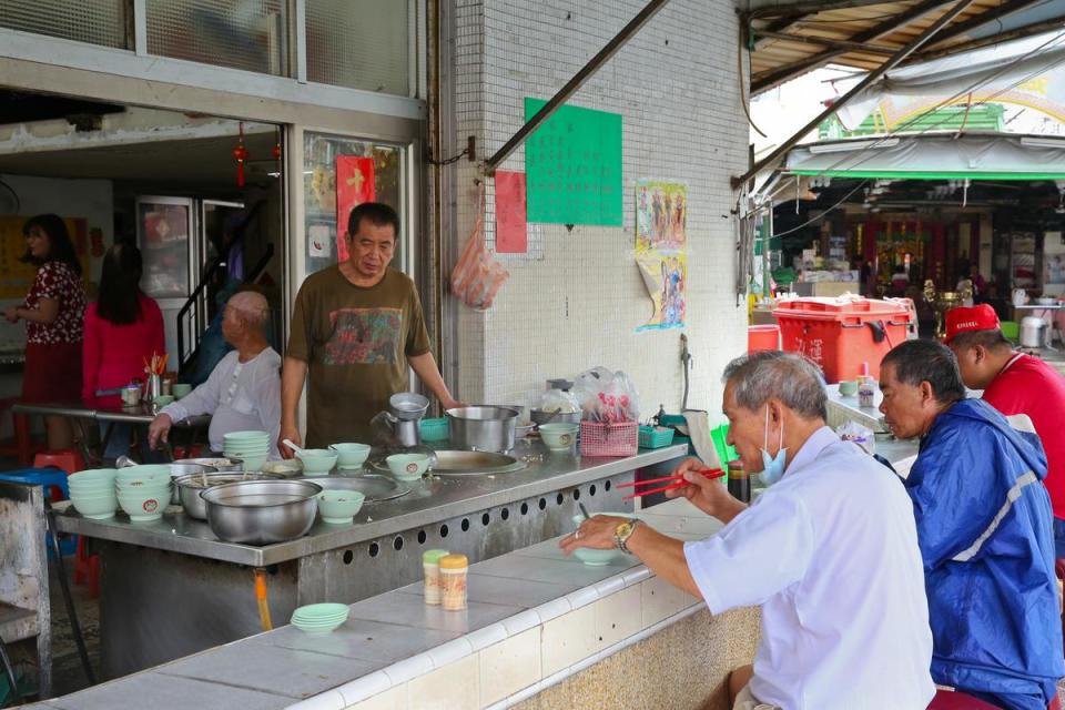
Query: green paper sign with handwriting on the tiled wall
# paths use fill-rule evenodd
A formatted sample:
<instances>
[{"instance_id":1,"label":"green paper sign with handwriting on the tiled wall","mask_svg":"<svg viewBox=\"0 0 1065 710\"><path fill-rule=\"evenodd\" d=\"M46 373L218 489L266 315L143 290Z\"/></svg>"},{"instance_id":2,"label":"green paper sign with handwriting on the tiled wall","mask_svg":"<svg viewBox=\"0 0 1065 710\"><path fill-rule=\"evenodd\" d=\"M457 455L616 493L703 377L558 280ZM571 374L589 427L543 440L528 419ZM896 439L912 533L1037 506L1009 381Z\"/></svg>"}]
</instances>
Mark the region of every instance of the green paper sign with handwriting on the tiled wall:
<instances>
[{"instance_id":1,"label":"green paper sign with handwriting on the tiled wall","mask_svg":"<svg viewBox=\"0 0 1065 710\"><path fill-rule=\"evenodd\" d=\"M621 114L559 108L525 142L525 182L529 222L621 226Z\"/></svg>"}]
</instances>

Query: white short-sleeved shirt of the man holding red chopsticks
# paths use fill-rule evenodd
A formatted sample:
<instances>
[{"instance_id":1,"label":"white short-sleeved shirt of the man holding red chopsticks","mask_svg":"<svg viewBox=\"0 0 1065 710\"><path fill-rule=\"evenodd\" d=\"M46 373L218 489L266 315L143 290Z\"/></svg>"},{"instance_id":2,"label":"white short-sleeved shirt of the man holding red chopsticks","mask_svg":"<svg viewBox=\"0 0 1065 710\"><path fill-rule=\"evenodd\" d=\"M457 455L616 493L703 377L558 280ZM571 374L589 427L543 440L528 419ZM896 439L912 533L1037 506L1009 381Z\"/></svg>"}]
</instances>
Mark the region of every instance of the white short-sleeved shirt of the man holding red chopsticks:
<instances>
[{"instance_id":1,"label":"white short-sleeved shirt of the man holding red chopsticks","mask_svg":"<svg viewBox=\"0 0 1065 710\"><path fill-rule=\"evenodd\" d=\"M684 545L713 613L761 605L750 689L784 710L925 710L935 688L913 506L829 427L718 535Z\"/></svg>"}]
</instances>

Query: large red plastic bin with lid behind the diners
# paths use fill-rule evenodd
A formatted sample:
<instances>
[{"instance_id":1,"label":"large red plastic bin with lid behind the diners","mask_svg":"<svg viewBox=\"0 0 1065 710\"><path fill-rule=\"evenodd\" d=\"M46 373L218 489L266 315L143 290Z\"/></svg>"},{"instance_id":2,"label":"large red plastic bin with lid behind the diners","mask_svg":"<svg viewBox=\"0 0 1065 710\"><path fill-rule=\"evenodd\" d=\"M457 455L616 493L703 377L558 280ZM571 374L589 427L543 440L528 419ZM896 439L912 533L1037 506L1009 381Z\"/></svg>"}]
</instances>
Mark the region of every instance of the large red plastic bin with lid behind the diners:
<instances>
[{"instance_id":1,"label":"large red plastic bin with lid behind the diners","mask_svg":"<svg viewBox=\"0 0 1065 710\"><path fill-rule=\"evenodd\" d=\"M869 363L880 376L880 361L906 339L911 314L902 302L871 298L795 298L773 311L783 349L805 355L824 371L825 382L854 379Z\"/></svg>"}]
</instances>

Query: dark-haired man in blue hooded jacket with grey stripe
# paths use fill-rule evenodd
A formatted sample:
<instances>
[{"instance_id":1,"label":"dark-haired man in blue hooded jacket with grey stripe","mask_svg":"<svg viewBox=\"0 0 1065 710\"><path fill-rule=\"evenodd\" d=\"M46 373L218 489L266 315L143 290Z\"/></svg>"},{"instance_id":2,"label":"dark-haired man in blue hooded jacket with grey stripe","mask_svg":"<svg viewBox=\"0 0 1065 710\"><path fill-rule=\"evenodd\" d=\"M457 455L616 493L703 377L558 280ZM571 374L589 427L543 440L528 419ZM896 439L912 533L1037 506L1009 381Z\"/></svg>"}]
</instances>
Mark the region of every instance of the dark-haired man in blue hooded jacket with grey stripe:
<instances>
[{"instance_id":1,"label":"dark-haired man in blue hooded jacket with grey stripe","mask_svg":"<svg viewBox=\"0 0 1065 710\"><path fill-rule=\"evenodd\" d=\"M905 480L924 558L932 678L1010 710L1045 710L1065 674L1051 500L1038 437L965 399L957 361L909 341L881 364L881 412L921 438Z\"/></svg>"}]
</instances>

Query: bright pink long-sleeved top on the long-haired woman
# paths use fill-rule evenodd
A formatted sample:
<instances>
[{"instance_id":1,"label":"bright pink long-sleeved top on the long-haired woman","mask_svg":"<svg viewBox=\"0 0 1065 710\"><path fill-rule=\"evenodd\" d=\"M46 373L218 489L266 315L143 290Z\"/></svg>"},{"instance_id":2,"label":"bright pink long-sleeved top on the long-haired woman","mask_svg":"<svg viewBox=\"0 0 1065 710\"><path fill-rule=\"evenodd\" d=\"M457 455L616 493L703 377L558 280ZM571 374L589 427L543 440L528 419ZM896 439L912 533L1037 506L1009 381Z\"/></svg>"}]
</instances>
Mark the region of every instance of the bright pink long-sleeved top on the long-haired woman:
<instances>
[{"instance_id":1,"label":"bright pink long-sleeved top on the long-haired woman","mask_svg":"<svg viewBox=\"0 0 1065 710\"><path fill-rule=\"evenodd\" d=\"M91 402L98 389L113 389L128 385L134 377L143 378L144 358L165 352L163 314L154 300L141 295L141 317L128 325L104 321L97 313L97 303L90 303L85 308L81 398ZM113 399L118 402L118 397Z\"/></svg>"}]
</instances>

